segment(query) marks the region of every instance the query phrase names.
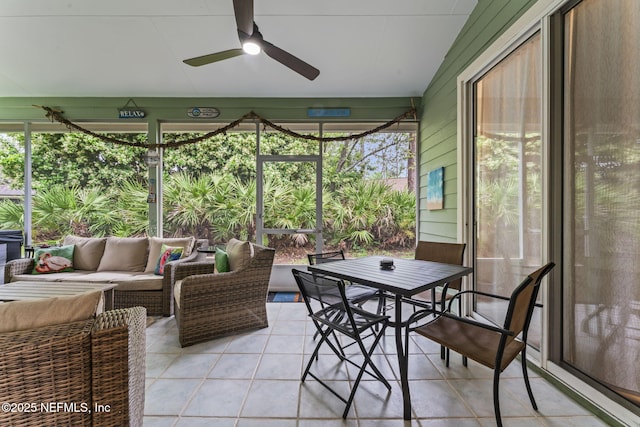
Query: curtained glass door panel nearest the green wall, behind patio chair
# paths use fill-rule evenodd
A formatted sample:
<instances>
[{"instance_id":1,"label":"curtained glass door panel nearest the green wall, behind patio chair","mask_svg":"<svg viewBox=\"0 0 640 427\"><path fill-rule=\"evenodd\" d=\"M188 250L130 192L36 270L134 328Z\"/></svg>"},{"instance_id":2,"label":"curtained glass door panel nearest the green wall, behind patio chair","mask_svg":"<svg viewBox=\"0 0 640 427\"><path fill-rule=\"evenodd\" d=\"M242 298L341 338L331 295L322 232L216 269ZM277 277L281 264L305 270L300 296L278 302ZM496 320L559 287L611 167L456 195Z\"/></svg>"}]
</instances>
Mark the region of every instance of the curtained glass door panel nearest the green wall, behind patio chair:
<instances>
[{"instance_id":1,"label":"curtained glass door panel nearest the green wall, behind patio chair","mask_svg":"<svg viewBox=\"0 0 640 427\"><path fill-rule=\"evenodd\" d=\"M509 296L542 263L540 34L494 65L474 88L474 287ZM478 298L495 322L506 305ZM540 310L529 343L540 346Z\"/></svg>"}]
</instances>

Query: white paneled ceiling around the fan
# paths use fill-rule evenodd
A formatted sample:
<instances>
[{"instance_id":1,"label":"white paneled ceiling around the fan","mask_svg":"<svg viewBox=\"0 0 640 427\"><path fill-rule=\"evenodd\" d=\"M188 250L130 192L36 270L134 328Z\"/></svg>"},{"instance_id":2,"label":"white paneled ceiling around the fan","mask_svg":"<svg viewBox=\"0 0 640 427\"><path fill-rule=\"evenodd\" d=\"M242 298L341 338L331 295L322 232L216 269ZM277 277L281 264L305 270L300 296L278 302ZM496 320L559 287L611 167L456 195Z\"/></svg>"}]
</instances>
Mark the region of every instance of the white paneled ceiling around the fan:
<instances>
[{"instance_id":1,"label":"white paneled ceiling around the fan","mask_svg":"<svg viewBox=\"0 0 640 427\"><path fill-rule=\"evenodd\" d=\"M255 0L265 40L309 81L240 47L232 0L2 0L0 97L422 96L476 0Z\"/></svg>"}]
</instances>

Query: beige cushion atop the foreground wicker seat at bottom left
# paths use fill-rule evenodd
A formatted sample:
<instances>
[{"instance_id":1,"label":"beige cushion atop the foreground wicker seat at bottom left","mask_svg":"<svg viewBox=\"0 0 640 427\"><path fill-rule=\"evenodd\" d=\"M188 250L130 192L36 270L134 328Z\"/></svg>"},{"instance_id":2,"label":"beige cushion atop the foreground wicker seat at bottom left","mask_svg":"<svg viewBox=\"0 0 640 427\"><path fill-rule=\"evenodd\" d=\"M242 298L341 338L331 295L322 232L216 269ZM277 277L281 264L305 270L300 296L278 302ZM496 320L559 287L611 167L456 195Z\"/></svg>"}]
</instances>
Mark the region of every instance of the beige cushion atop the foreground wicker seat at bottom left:
<instances>
[{"instance_id":1,"label":"beige cushion atop the foreground wicker seat at bottom left","mask_svg":"<svg viewBox=\"0 0 640 427\"><path fill-rule=\"evenodd\" d=\"M95 316L102 291L0 304L0 332L24 331Z\"/></svg>"}]
</instances>

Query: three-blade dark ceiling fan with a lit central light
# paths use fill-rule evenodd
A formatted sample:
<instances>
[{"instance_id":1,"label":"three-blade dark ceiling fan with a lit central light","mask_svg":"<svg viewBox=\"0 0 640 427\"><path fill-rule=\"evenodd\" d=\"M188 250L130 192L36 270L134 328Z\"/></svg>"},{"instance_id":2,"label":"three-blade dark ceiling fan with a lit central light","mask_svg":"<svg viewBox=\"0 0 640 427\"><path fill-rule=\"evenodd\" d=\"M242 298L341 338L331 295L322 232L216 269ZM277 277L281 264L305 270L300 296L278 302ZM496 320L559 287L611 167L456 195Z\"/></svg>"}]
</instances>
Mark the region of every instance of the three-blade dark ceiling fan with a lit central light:
<instances>
[{"instance_id":1,"label":"three-blade dark ceiling fan with a lit central light","mask_svg":"<svg viewBox=\"0 0 640 427\"><path fill-rule=\"evenodd\" d=\"M313 80L318 77L320 70L312 67L300 58L293 56L289 52L272 45L262 38L262 33L260 33L258 26L253 20L253 0L233 0L233 10L236 15L238 38L240 39L242 48L229 49L222 52L211 53L209 55L185 59L183 61L185 64L193 67L199 67L201 65L207 65L224 59L244 55L245 53L257 55L260 51L264 51L264 53L271 58L275 59L282 65L291 68L293 71L301 74L309 80Z\"/></svg>"}]
</instances>

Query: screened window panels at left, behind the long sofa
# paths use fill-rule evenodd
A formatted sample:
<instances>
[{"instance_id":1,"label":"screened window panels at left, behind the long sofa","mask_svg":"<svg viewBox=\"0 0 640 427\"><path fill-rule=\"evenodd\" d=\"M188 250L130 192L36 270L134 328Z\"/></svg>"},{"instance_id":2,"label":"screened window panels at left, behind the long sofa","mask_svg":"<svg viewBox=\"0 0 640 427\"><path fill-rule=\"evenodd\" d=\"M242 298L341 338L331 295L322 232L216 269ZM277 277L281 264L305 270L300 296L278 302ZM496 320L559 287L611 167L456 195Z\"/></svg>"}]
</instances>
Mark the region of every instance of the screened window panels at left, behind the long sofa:
<instances>
[{"instance_id":1,"label":"screened window panels at left, behind the long sofa","mask_svg":"<svg viewBox=\"0 0 640 427\"><path fill-rule=\"evenodd\" d=\"M108 124L85 125L115 140L146 141L146 133L112 132ZM0 180L24 195L24 133L0 135ZM31 224L24 204L0 205L2 228L31 228L35 244L79 236L146 235L149 225L146 150L105 142L78 132L32 132ZM118 215L114 215L118 212Z\"/></svg>"}]
</instances>

